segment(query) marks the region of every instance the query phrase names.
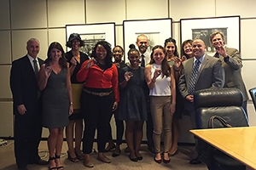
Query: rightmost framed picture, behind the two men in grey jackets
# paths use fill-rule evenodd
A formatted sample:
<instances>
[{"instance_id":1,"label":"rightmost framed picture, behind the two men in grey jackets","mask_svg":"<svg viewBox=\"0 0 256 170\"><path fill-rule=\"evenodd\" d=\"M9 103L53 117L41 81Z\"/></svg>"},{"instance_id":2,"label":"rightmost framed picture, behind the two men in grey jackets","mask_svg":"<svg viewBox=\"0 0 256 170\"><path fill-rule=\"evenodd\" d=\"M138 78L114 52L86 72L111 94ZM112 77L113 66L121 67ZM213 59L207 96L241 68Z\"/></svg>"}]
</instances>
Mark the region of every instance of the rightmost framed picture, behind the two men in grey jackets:
<instances>
[{"instance_id":1,"label":"rightmost framed picture, behind the two men in grey jackets","mask_svg":"<svg viewBox=\"0 0 256 170\"><path fill-rule=\"evenodd\" d=\"M222 31L225 44L240 50L240 16L181 19L180 31L181 43L187 39L201 38L209 55L216 53L210 40L213 31Z\"/></svg>"}]
</instances>

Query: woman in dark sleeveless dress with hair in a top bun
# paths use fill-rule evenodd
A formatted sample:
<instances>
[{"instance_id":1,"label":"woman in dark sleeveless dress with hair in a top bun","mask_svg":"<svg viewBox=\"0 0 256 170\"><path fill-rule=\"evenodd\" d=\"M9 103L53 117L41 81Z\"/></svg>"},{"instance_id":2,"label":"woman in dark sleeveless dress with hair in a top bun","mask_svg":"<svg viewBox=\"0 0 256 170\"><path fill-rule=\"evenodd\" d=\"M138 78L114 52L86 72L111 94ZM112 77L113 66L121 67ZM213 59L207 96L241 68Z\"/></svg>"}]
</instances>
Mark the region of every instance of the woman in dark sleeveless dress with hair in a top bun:
<instances>
[{"instance_id":1,"label":"woman in dark sleeveless dress with hair in a top bun","mask_svg":"<svg viewBox=\"0 0 256 170\"><path fill-rule=\"evenodd\" d=\"M140 65L140 55L135 45L128 51L129 66L119 71L120 102L117 118L126 122L125 140L130 150L131 161L142 160L139 153L143 139L143 122L147 120L148 86L144 77L144 67Z\"/></svg>"}]
</instances>

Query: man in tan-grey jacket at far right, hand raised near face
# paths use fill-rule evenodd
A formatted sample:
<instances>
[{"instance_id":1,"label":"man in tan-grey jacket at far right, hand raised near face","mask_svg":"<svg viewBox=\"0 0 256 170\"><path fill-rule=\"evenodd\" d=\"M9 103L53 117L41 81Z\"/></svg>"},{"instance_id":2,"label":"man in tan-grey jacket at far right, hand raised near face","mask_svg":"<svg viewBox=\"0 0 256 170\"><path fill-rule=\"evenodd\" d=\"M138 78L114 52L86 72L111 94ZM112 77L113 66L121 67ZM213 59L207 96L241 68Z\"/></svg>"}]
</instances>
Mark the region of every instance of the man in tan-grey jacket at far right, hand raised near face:
<instances>
[{"instance_id":1,"label":"man in tan-grey jacket at far right, hand raised near face","mask_svg":"<svg viewBox=\"0 0 256 170\"><path fill-rule=\"evenodd\" d=\"M225 72L224 88L238 88L243 94L242 108L247 113L247 89L241 78L241 54L236 48L228 48L224 43L224 34L214 31L210 36L212 46L216 49L215 57L222 62Z\"/></svg>"}]
</instances>

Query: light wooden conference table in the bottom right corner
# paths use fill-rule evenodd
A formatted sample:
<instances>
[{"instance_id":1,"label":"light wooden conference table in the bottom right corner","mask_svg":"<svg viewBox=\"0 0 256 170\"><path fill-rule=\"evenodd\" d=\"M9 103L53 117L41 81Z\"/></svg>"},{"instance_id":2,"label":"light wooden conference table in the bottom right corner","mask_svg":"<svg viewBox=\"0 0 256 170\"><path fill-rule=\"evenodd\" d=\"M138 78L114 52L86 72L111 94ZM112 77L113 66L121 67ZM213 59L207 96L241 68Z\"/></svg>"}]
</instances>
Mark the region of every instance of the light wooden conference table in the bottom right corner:
<instances>
[{"instance_id":1,"label":"light wooden conference table in the bottom right corner","mask_svg":"<svg viewBox=\"0 0 256 170\"><path fill-rule=\"evenodd\" d=\"M256 169L256 127L190 130L218 150Z\"/></svg>"}]
</instances>

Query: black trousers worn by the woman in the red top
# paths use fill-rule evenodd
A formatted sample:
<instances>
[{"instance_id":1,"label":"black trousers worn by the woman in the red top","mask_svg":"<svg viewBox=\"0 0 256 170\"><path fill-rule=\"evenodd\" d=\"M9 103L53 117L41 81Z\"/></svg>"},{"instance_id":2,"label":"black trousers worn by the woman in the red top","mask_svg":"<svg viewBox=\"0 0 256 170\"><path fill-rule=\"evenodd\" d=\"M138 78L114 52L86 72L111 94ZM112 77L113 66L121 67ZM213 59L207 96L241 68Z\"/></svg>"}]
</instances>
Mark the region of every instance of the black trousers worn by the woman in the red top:
<instances>
[{"instance_id":1,"label":"black trousers worn by the woman in the red top","mask_svg":"<svg viewBox=\"0 0 256 170\"><path fill-rule=\"evenodd\" d=\"M113 93L108 96L81 94L81 111L84 115L83 152L90 154L97 129L97 147L99 152L105 151L109 134L109 120L112 116L114 102Z\"/></svg>"}]
</instances>

